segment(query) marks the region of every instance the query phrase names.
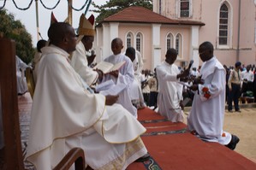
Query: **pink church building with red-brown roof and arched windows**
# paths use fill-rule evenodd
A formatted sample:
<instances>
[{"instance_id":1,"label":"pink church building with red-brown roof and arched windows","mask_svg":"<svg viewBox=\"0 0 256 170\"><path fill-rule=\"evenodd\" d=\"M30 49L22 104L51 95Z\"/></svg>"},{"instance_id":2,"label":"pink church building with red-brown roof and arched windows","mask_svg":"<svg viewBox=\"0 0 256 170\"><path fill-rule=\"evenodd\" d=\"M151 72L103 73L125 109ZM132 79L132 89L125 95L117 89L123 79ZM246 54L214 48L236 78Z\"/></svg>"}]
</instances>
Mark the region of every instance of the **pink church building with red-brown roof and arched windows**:
<instances>
[{"instance_id":1,"label":"pink church building with red-brown roof and arched windows","mask_svg":"<svg viewBox=\"0 0 256 170\"><path fill-rule=\"evenodd\" d=\"M153 11L129 7L96 26L97 60L112 54L113 38L140 51L144 68L153 70L168 48L178 51L176 64L199 67L199 44L210 41L217 59L227 66L256 60L256 1L153 0Z\"/></svg>"}]
</instances>

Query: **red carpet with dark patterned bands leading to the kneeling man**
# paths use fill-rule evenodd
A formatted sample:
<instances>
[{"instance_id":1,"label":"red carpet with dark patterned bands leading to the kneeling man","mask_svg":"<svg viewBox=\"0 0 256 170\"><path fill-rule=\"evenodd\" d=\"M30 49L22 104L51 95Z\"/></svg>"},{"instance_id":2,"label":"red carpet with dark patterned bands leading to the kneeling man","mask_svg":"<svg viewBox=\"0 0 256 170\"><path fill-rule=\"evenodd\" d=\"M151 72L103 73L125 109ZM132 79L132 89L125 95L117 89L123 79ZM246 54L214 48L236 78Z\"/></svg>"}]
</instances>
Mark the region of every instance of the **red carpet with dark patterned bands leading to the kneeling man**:
<instances>
[{"instance_id":1,"label":"red carpet with dark patterned bands leading to the kneeling man","mask_svg":"<svg viewBox=\"0 0 256 170\"><path fill-rule=\"evenodd\" d=\"M183 123L164 121L164 117L149 108L139 110L139 120L146 127L142 136L153 161L148 168L134 162L127 170L255 170L256 164L244 156L217 143L205 143L186 131ZM145 121L146 120L146 121ZM152 121L151 121L152 120Z\"/></svg>"}]
</instances>

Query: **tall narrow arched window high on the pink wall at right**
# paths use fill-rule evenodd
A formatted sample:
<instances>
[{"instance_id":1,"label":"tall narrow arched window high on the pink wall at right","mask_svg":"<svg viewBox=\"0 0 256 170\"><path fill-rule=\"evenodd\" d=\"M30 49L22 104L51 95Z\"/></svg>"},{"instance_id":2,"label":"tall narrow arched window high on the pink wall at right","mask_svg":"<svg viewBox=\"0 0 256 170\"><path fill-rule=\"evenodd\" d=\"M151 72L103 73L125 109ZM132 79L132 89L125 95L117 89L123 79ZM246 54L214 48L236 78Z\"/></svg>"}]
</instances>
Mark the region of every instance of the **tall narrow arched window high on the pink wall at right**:
<instances>
[{"instance_id":1,"label":"tall narrow arched window high on the pink wall at right","mask_svg":"<svg viewBox=\"0 0 256 170\"><path fill-rule=\"evenodd\" d=\"M225 3L221 6L219 12L218 34L218 44L227 45L229 36L229 9Z\"/></svg>"}]
</instances>

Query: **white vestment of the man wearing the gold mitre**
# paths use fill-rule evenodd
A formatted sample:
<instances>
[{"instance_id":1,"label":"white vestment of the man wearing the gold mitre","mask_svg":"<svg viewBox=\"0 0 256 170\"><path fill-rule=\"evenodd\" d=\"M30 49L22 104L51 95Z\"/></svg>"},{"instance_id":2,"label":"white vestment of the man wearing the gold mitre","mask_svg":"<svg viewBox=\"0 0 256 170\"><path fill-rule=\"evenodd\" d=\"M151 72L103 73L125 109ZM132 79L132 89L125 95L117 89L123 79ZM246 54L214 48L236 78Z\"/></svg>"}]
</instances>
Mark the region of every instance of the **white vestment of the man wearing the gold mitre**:
<instances>
[{"instance_id":1,"label":"white vestment of the man wearing the gold mitre","mask_svg":"<svg viewBox=\"0 0 256 170\"><path fill-rule=\"evenodd\" d=\"M71 66L74 67L76 73L80 74L80 77L86 81L87 85L92 85L96 83L98 79L98 73L88 67L88 62L86 58L86 48L84 44L80 41L76 44L75 51L71 57Z\"/></svg>"}]
</instances>

